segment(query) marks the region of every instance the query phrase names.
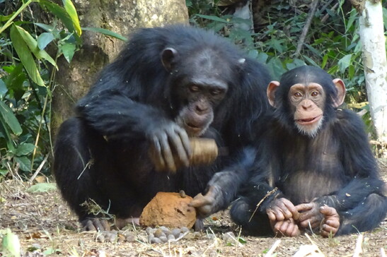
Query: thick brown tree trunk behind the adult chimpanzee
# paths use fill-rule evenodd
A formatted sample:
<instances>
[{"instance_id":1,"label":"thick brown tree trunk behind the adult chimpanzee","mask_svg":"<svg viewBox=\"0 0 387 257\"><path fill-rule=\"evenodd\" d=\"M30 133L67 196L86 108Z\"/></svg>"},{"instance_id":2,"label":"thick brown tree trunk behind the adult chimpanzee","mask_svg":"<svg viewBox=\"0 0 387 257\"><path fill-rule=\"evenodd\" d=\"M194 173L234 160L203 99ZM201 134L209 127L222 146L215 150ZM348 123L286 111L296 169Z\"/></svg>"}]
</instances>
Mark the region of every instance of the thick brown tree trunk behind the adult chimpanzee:
<instances>
[{"instance_id":1,"label":"thick brown tree trunk behind the adult chimpanzee","mask_svg":"<svg viewBox=\"0 0 387 257\"><path fill-rule=\"evenodd\" d=\"M81 27L106 28L128 35L137 28L187 23L185 0L76 0ZM71 64L61 57L53 90L51 131L53 138L65 119L74 115L74 104L86 94L96 73L114 59L124 42L91 31L82 33L83 45Z\"/></svg>"}]
</instances>

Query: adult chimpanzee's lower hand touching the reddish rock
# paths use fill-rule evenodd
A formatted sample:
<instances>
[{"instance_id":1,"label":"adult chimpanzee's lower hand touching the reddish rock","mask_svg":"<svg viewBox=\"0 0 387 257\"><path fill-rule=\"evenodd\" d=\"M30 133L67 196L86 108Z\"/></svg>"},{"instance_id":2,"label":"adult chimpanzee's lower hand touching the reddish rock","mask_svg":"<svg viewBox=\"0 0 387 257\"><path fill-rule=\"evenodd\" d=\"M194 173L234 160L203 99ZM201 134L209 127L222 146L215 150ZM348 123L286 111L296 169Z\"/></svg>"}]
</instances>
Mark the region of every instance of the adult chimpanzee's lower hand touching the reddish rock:
<instances>
[{"instance_id":1,"label":"adult chimpanzee's lower hand touching the reddish rock","mask_svg":"<svg viewBox=\"0 0 387 257\"><path fill-rule=\"evenodd\" d=\"M217 186L209 186L204 196L202 193L199 193L193 198L190 206L196 208L197 217L207 217L218 211L216 196L221 196L221 190Z\"/></svg>"}]
</instances>

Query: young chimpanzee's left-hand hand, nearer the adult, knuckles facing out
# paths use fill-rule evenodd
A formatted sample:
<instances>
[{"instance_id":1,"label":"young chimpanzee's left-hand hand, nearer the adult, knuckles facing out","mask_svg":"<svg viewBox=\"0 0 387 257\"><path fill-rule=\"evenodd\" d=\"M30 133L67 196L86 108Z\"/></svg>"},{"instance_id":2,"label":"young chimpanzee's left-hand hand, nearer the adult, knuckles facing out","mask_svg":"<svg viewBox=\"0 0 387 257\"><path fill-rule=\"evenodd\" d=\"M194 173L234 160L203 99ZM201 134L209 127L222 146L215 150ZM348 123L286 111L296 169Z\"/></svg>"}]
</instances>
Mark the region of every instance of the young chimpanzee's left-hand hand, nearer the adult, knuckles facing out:
<instances>
[{"instance_id":1,"label":"young chimpanzee's left-hand hand, nearer the adult, knuckles facing out","mask_svg":"<svg viewBox=\"0 0 387 257\"><path fill-rule=\"evenodd\" d=\"M286 198L276 198L273 200L266 209L266 213L272 222L287 220L289 218L298 220L299 218L299 212L296 210L293 203Z\"/></svg>"}]
</instances>

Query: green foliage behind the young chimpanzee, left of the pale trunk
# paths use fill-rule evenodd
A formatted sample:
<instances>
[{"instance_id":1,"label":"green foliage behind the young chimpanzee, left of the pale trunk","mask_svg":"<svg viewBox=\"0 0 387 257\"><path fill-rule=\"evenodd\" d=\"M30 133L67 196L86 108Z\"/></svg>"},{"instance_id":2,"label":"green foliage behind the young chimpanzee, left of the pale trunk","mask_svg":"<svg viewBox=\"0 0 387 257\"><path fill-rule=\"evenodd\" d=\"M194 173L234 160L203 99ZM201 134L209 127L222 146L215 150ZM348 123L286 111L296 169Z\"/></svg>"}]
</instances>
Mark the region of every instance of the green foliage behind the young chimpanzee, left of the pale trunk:
<instances>
[{"instance_id":1,"label":"green foliage behind the young chimpanzee, left of the pale trunk","mask_svg":"<svg viewBox=\"0 0 387 257\"><path fill-rule=\"evenodd\" d=\"M334 78L345 81L346 102L351 107L355 106L354 103L366 102L362 46L358 33L359 16L354 8L343 0L320 1L301 53L296 56L297 44L310 11L309 4L303 4L302 1L291 4L279 0L260 2L265 3L258 13L264 22L255 24L254 30L250 31L241 29L241 23L251 25L251 20L233 17L230 14L232 6L222 7L217 6L216 1L195 0L187 0L187 6L190 23L229 37L246 49L250 57L267 64L275 79L297 66L319 66ZM386 8L383 8L383 16L387 28ZM361 108L368 106L362 104ZM364 116L364 121L369 124L369 114Z\"/></svg>"}]
</instances>

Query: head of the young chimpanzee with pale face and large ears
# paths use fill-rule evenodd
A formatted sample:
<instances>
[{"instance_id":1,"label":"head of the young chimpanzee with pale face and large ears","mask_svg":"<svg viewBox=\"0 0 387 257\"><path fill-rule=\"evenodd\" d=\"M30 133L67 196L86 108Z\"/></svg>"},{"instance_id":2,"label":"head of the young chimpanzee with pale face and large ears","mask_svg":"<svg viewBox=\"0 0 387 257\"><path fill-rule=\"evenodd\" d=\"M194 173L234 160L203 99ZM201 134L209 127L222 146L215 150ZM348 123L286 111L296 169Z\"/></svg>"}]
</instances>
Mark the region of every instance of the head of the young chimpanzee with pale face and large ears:
<instances>
[{"instance_id":1,"label":"head of the young chimpanzee with pale face and large ears","mask_svg":"<svg viewBox=\"0 0 387 257\"><path fill-rule=\"evenodd\" d=\"M332 118L331 110L344 101L345 85L340 78L332 80L319 68L305 66L285 73L281 83L272 81L267 97L277 112L290 117L286 122L291 124L285 125L314 137L324 121Z\"/></svg>"}]
</instances>

